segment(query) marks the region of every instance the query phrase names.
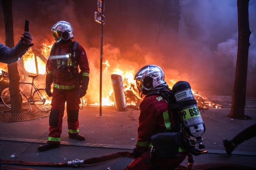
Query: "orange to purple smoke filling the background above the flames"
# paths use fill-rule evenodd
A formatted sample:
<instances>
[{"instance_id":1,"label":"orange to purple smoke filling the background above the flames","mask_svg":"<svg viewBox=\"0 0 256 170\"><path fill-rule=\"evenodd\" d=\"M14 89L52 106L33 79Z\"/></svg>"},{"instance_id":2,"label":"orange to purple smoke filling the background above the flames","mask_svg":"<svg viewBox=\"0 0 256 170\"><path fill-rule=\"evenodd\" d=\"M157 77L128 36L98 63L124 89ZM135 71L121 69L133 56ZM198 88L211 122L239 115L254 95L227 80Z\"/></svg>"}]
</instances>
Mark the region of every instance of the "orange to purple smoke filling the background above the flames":
<instances>
[{"instance_id":1,"label":"orange to purple smoke filling the background above the flames","mask_svg":"<svg viewBox=\"0 0 256 170\"><path fill-rule=\"evenodd\" d=\"M117 68L133 73L146 64L156 64L172 87L189 81L193 89L232 94L238 45L237 2L234 0L180 0L178 31L169 21L157 42L157 22L145 4L137 0L105 2L103 27L103 91L112 89L110 75ZM170 1L171 2L171 1ZM175 0L173 0L175 2ZM127 9L121 8L127 4ZM256 3L250 1L250 35L247 92L256 94ZM100 24L94 21L97 1L12 0L15 42L30 21L30 32L38 48L54 43L51 27L58 21L73 26L75 41L84 47L90 64L89 101L99 101ZM131 9L132 12L128 13ZM4 23L2 11L0 22ZM160 24L159 24L160 25ZM161 26L161 25L160 25ZM159 27L160 28L160 27ZM0 25L4 43L4 24ZM106 61L107 60L107 61ZM109 64L109 66L106 66ZM122 77L124 78L124 77ZM131 78L130 78L131 79ZM106 92L108 93L108 92Z\"/></svg>"}]
</instances>

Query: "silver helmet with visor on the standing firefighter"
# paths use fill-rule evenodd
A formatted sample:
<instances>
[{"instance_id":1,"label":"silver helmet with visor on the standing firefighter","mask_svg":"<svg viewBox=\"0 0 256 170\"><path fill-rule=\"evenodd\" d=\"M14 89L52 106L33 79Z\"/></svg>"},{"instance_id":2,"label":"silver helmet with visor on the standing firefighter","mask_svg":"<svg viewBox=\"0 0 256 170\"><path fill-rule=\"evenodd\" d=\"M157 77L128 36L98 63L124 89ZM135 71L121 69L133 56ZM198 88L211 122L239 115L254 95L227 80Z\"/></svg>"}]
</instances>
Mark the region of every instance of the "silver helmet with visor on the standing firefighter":
<instances>
[{"instance_id":1,"label":"silver helmet with visor on the standing firefighter","mask_svg":"<svg viewBox=\"0 0 256 170\"><path fill-rule=\"evenodd\" d=\"M67 21L59 21L51 28L53 37L56 43L59 43L62 39L68 40L74 37L73 28Z\"/></svg>"}]
</instances>

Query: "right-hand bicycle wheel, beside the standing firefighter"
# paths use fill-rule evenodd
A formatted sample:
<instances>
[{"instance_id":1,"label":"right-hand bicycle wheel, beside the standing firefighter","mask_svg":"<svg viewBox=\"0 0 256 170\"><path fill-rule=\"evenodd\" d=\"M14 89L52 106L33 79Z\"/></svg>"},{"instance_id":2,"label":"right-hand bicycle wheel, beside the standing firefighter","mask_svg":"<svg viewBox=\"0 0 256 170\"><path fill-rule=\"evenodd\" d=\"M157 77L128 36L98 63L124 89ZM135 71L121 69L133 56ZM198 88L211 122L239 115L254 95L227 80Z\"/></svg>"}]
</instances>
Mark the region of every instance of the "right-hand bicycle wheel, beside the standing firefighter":
<instances>
[{"instance_id":1,"label":"right-hand bicycle wheel, beside the standing firefighter","mask_svg":"<svg viewBox=\"0 0 256 170\"><path fill-rule=\"evenodd\" d=\"M51 97L47 96L45 89L37 89L33 92L32 101L38 110L48 112L51 110Z\"/></svg>"}]
</instances>

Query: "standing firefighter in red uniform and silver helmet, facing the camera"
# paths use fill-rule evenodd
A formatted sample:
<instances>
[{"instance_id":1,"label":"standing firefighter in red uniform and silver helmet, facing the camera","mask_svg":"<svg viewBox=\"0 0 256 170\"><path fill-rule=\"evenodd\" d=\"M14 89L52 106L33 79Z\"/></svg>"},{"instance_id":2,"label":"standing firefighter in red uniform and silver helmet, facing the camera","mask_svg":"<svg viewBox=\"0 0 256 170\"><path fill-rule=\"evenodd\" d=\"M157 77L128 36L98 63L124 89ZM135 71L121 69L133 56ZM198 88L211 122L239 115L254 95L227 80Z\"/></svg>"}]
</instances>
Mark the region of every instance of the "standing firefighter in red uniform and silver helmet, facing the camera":
<instances>
[{"instance_id":1,"label":"standing firefighter in red uniform and silver helmet, facing the camera","mask_svg":"<svg viewBox=\"0 0 256 170\"><path fill-rule=\"evenodd\" d=\"M79 134L78 112L80 98L86 94L89 83L89 64L85 50L73 39L73 28L66 21L53 25L51 31L56 43L51 48L51 54L46 64L46 87L48 96L52 96L49 117L48 142L38 147L39 151L58 148L62 133L62 118L67 112L68 135L79 141L84 141ZM80 68L80 73L78 71ZM51 84L53 92L51 93Z\"/></svg>"}]
</instances>

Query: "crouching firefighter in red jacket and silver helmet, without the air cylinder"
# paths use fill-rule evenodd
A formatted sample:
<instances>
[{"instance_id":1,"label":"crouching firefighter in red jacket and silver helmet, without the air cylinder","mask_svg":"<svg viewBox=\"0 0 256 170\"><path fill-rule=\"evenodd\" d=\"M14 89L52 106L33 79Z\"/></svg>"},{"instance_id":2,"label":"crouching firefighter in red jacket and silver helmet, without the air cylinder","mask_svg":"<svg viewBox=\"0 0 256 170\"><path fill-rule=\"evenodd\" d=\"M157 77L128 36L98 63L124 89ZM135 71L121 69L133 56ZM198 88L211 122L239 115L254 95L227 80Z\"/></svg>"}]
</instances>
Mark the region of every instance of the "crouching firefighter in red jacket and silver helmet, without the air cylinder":
<instances>
[{"instance_id":1,"label":"crouching firefighter in red jacket and silver helmet, without the air cylinder","mask_svg":"<svg viewBox=\"0 0 256 170\"><path fill-rule=\"evenodd\" d=\"M180 147L179 134L172 129L174 122L168 115L168 103L161 93L169 90L164 77L162 69L156 65L146 65L135 74L134 79L143 101L139 106L138 137L132 152L135 159L126 170L171 170L187 156L187 151ZM159 134L171 134L167 136L171 137L170 142L166 145L157 139L153 144L153 136ZM171 151L166 155L167 150Z\"/></svg>"}]
</instances>

